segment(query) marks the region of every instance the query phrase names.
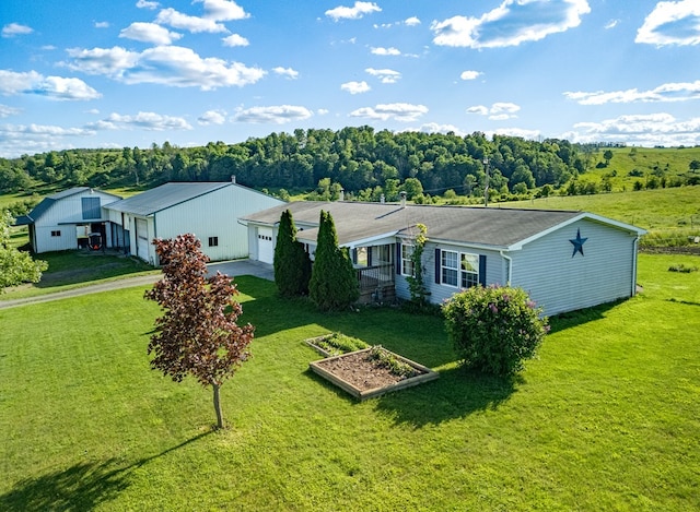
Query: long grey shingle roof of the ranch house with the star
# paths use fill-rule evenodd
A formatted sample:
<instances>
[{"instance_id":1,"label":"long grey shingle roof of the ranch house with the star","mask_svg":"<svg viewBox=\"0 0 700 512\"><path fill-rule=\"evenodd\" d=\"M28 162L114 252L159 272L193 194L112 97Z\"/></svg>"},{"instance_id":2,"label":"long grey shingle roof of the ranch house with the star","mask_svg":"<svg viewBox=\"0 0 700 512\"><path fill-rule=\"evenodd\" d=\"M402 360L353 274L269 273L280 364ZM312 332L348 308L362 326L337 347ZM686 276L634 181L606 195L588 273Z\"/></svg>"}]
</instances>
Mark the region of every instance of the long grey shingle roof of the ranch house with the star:
<instances>
[{"instance_id":1,"label":"long grey shingle roof of the ranch house with the star","mask_svg":"<svg viewBox=\"0 0 700 512\"><path fill-rule=\"evenodd\" d=\"M497 249L517 248L518 245L580 218L643 233L633 226L585 212L412 204L401 206L394 203L360 202L291 202L248 215L242 221L275 225L284 210L292 213L298 228L318 226L320 211L329 212L341 246L353 246L387 236L413 236L417 224L425 225L428 237L433 241ZM304 228L298 233L298 238L302 241L315 241L317 229Z\"/></svg>"}]
</instances>

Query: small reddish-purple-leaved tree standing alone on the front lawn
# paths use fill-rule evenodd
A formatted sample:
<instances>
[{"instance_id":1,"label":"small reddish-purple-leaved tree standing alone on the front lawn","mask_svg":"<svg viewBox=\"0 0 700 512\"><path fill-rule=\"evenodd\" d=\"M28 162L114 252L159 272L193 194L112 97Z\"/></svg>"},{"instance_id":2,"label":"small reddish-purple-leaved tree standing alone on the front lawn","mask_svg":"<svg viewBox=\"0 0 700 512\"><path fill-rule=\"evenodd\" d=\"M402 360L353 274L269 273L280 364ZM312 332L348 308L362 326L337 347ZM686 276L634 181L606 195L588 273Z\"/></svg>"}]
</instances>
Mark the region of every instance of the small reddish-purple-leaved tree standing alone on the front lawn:
<instances>
[{"instance_id":1,"label":"small reddish-purple-leaved tree standing alone on the front lawn","mask_svg":"<svg viewBox=\"0 0 700 512\"><path fill-rule=\"evenodd\" d=\"M207 277L209 258L191 234L153 242L163 267L163 278L145 298L156 301L163 315L155 320L148 353L151 368L182 382L192 376L213 389L217 427L223 427L219 391L250 357L248 345L255 328L238 325L243 312L234 299L238 294L232 279L221 273Z\"/></svg>"}]
</instances>

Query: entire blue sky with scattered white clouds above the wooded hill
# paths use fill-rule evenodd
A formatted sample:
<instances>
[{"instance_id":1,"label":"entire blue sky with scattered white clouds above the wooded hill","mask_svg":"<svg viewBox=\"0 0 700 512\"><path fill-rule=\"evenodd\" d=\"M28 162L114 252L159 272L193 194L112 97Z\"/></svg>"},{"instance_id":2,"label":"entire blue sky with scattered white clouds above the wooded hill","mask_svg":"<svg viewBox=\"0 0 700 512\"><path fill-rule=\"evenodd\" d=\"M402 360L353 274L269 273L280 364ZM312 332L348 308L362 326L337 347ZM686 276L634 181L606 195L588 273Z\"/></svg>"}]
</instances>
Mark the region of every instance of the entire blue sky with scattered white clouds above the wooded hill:
<instances>
[{"instance_id":1,"label":"entire blue sky with scattered white clouds above the wooded hill","mask_svg":"<svg viewBox=\"0 0 700 512\"><path fill-rule=\"evenodd\" d=\"M296 128L700 144L700 0L3 0L0 156Z\"/></svg>"}]
</instances>

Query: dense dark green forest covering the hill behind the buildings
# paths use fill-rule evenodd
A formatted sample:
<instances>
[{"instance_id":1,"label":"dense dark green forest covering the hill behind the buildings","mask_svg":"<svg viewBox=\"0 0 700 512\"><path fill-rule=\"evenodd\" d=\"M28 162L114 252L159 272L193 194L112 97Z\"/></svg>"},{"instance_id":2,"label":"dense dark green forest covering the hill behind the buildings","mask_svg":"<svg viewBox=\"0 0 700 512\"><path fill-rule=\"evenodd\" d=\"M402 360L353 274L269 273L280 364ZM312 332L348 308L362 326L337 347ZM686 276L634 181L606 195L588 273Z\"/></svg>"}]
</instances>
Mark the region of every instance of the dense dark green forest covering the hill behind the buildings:
<instances>
[{"instance_id":1,"label":"dense dark green forest covering the hill behind the buildings","mask_svg":"<svg viewBox=\"0 0 700 512\"><path fill-rule=\"evenodd\" d=\"M294 130L236 144L211 142L178 147L168 142L150 148L67 150L20 158L0 158L0 193L36 184L154 187L167 181L228 181L256 188L312 192L330 199L343 189L347 199L387 201L405 190L420 200L446 192L482 197L526 193L564 186L599 162L598 146L565 140L528 141L481 132L375 131L371 127ZM314 198L312 198L314 199Z\"/></svg>"}]
</instances>

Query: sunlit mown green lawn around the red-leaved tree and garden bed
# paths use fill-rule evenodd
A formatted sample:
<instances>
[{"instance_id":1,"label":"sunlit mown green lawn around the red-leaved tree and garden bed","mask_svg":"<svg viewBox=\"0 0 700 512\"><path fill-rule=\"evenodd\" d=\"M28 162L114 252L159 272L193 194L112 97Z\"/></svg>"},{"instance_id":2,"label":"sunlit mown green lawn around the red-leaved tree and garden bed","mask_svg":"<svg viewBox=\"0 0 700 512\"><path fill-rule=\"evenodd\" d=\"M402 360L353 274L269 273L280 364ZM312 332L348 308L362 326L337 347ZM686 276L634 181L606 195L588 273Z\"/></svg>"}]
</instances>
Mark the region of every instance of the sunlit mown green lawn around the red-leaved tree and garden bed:
<instances>
[{"instance_id":1,"label":"sunlit mown green lawn around the red-leaved tree and garden bed","mask_svg":"<svg viewBox=\"0 0 700 512\"><path fill-rule=\"evenodd\" d=\"M222 389L149 369L144 288L0 310L0 510L700 508L700 266L640 257L638 297L552 320L512 383L458 369L442 321L322 314L240 277L254 358ZM434 382L357 403L308 371L340 331Z\"/></svg>"}]
</instances>

